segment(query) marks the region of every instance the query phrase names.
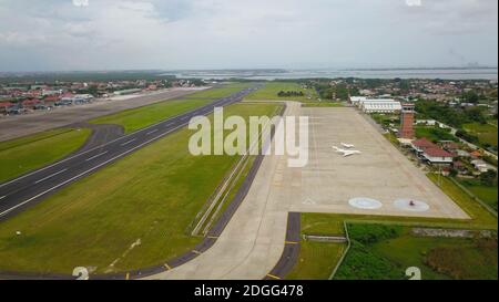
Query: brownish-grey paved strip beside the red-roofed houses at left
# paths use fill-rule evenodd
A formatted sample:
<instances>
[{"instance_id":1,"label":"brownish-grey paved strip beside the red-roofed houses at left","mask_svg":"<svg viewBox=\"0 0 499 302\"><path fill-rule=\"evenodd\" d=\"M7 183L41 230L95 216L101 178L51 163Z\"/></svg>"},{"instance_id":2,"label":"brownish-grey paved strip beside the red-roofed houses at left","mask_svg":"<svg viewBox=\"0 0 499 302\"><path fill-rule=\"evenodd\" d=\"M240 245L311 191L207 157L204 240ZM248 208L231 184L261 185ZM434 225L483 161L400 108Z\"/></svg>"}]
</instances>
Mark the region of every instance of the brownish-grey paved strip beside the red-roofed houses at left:
<instances>
[{"instance_id":1,"label":"brownish-grey paved strip beside the red-roofed houses at left","mask_svg":"<svg viewBox=\"0 0 499 302\"><path fill-rule=\"evenodd\" d=\"M171 88L144 95L116 96L111 101L101 100L91 104L67 106L55 108L50 112L34 112L31 114L16 116L0 115L0 142L47 129L70 126L73 123L85 122L91 118L124 110L136 108L161 101L177 98L195 93L200 90L202 88Z\"/></svg>"}]
</instances>

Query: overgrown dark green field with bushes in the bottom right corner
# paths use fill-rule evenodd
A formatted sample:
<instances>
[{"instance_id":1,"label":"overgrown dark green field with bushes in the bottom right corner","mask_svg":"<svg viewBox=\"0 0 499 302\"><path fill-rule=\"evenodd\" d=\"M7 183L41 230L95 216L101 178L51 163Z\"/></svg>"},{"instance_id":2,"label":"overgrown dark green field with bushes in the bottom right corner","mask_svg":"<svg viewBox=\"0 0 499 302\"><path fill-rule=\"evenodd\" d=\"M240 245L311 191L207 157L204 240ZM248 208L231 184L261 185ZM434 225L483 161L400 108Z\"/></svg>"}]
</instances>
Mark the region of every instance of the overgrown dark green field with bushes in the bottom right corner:
<instances>
[{"instance_id":1,"label":"overgrown dark green field with bushes in the bottom right corner","mask_svg":"<svg viewBox=\"0 0 499 302\"><path fill-rule=\"evenodd\" d=\"M379 226L349 228L361 228L363 233L350 236L353 248L337 279L407 279L409 267L419 268L424 280L497 279L495 239L418 237L408 227L388 238L377 238L373 231Z\"/></svg>"}]
</instances>

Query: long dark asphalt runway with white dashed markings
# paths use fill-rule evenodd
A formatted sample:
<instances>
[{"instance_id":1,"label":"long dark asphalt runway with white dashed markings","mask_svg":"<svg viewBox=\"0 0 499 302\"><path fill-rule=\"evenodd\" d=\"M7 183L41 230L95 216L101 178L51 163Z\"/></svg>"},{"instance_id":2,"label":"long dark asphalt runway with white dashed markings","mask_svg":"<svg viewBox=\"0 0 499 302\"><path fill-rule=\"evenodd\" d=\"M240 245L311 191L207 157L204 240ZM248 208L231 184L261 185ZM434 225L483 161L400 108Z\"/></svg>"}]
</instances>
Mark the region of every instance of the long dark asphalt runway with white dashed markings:
<instances>
[{"instance_id":1,"label":"long dark asphalt runway with white dashed markings","mask_svg":"<svg viewBox=\"0 0 499 302\"><path fill-rule=\"evenodd\" d=\"M187 125L189 121L194 116L207 115L213 112L214 107L240 102L253 90L256 90L256 87L243 90L206 106L121 136L104 145L80 152L53 165L0 184L0 220L40 202L44 197L63 186L175 132Z\"/></svg>"}]
</instances>

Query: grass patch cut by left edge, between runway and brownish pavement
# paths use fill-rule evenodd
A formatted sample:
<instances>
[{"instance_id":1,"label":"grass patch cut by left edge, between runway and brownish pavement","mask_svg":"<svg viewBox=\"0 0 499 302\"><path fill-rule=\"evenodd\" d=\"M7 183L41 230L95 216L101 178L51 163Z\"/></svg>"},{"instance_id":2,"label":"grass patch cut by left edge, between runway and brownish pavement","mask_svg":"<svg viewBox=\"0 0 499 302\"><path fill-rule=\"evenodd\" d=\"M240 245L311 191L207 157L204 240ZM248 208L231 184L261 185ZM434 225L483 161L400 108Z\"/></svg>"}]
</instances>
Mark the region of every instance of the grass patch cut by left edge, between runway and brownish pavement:
<instances>
[{"instance_id":1,"label":"grass patch cut by left edge, between runway and brownish pavement","mask_svg":"<svg viewBox=\"0 0 499 302\"><path fill-rule=\"evenodd\" d=\"M59 128L0 143L0 183L41 168L79 149L90 129Z\"/></svg>"}]
</instances>

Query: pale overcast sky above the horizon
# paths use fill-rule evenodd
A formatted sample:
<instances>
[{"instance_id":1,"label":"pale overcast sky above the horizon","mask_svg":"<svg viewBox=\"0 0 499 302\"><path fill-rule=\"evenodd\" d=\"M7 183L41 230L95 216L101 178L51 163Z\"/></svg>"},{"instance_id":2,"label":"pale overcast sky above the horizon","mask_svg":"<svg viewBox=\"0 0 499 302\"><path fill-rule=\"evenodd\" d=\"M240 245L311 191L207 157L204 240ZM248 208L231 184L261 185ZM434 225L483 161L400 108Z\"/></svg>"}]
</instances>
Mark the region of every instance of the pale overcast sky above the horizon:
<instances>
[{"instance_id":1,"label":"pale overcast sky above the horizon","mask_svg":"<svg viewBox=\"0 0 499 302\"><path fill-rule=\"evenodd\" d=\"M497 0L0 0L0 71L497 66Z\"/></svg>"}]
</instances>

